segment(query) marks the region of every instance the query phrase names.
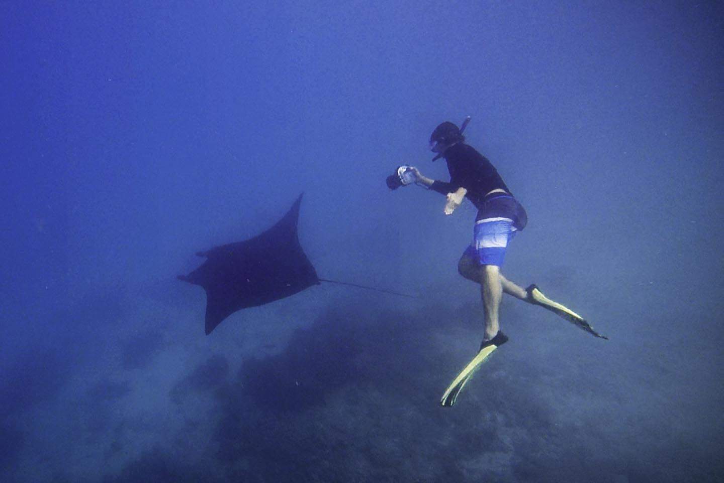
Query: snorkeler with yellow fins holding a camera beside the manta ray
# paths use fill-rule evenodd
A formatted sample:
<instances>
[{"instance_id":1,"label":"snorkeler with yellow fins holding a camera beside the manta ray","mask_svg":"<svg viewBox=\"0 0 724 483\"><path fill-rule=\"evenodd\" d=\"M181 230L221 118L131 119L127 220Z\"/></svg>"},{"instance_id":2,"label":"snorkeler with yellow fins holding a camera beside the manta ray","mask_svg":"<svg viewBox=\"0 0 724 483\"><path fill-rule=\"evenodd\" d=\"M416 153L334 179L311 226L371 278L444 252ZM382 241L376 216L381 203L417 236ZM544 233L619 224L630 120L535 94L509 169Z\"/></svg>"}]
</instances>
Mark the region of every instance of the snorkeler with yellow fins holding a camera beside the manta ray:
<instances>
[{"instance_id":1,"label":"snorkeler with yellow fins holding a camera beside the manta ray","mask_svg":"<svg viewBox=\"0 0 724 483\"><path fill-rule=\"evenodd\" d=\"M388 177L387 185L396 189L412 182L447 197L444 212L452 214L468 198L478 209L473 228L473 240L458 262L458 272L468 280L479 283L484 304L485 331L476 357L458 374L442 396L442 406L452 406L472 374L508 337L500 330L499 309L503 293L539 305L596 337L599 335L581 316L546 298L536 285L523 288L500 272L508 242L528 222L526 210L513 196L490 161L465 143L463 130L469 117L458 127L452 122L438 125L430 136L430 149L445 158L450 182L432 180L416 167L399 167Z\"/></svg>"}]
</instances>

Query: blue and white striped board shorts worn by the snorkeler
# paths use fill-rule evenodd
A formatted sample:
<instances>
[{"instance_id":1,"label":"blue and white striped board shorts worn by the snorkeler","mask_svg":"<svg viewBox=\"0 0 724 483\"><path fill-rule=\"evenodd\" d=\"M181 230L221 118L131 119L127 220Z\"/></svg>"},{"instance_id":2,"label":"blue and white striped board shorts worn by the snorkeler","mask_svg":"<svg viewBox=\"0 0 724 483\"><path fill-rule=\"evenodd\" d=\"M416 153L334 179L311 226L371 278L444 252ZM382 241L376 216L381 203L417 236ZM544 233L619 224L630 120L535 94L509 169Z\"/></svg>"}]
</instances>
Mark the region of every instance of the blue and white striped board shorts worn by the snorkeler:
<instances>
[{"instance_id":1,"label":"blue and white striped board shorts worn by the snorkeler","mask_svg":"<svg viewBox=\"0 0 724 483\"><path fill-rule=\"evenodd\" d=\"M500 192L486 196L475 219L473 242L463 256L469 256L480 265L502 266L508 242L526 224L526 210L513 196Z\"/></svg>"}]
</instances>

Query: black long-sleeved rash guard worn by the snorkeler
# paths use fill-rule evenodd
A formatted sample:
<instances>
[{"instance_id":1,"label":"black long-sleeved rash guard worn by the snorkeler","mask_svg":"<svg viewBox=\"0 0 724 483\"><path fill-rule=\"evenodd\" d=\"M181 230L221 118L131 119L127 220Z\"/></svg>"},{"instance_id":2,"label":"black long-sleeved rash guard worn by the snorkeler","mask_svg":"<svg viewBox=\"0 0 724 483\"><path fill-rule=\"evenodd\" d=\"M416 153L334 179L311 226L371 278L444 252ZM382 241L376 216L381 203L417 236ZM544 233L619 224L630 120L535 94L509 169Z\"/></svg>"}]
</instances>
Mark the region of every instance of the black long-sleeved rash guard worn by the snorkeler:
<instances>
[{"instance_id":1,"label":"black long-sleeved rash guard worn by the snorkeler","mask_svg":"<svg viewBox=\"0 0 724 483\"><path fill-rule=\"evenodd\" d=\"M450 182L432 183L430 189L437 193L447 195L458 188L465 188L468 190L466 198L472 201L477 209L482 208L483 198L492 190L502 189L510 193L490 161L467 144L458 143L447 148L445 161L450 172Z\"/></svg>"}]
</instances>

